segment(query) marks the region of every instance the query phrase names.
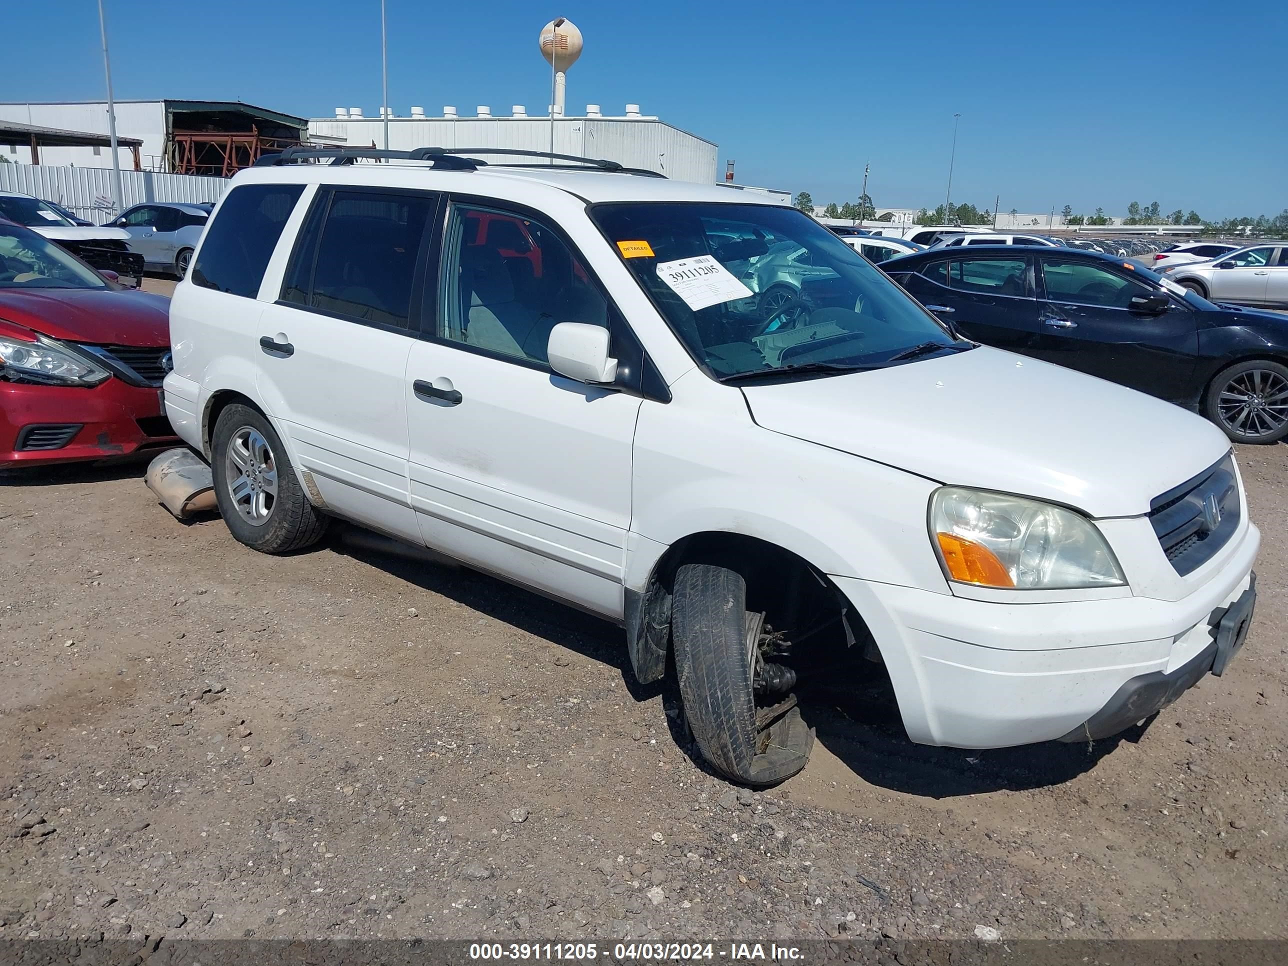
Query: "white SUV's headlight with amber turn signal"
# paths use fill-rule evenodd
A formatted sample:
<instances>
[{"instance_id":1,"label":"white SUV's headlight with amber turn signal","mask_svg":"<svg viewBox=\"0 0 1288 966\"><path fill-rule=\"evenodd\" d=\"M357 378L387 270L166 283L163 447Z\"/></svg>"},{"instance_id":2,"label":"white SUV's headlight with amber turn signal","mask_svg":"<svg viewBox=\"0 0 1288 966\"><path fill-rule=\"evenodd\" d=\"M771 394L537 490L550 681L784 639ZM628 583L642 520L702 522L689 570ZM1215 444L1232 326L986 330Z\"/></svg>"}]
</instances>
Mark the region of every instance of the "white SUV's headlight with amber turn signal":
<instances>
[{"instance_id":1,"label":"white SUV's headlight with amber turn signal","mask_svg":"<svg viewBox=\"0 0 1288 966\"><path fill-rule=\"evenodd\" d=\"M1127 581L1096 526L1039 500L943 487L930 535L949 580L984 587L1070 590Z\"/></svg>"}]
</instances>

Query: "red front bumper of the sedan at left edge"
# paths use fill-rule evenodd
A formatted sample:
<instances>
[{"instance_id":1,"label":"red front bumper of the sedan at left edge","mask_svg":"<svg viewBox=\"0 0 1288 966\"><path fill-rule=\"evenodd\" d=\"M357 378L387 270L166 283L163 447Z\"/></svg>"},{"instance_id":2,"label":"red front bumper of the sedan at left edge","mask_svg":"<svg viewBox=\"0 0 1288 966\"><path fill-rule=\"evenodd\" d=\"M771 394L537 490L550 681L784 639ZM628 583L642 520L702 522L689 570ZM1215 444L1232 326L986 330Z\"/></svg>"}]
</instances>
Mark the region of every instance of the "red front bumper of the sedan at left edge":
<instances>
[{"instance_id":1,"label":"red front bumper of the sedan at left edge","mask_svg":"<svg viewBox=\"0 0 1288 966\"><path fill-rule=\"evenodd\" d=\"M53 426L68 428L64 444L54 450L24 448L32 428ZM0 383L3 468L108 460L173 446L175 439L160 389L128 385L115 376L97 386Z\"/></svg>"}]
</instances>

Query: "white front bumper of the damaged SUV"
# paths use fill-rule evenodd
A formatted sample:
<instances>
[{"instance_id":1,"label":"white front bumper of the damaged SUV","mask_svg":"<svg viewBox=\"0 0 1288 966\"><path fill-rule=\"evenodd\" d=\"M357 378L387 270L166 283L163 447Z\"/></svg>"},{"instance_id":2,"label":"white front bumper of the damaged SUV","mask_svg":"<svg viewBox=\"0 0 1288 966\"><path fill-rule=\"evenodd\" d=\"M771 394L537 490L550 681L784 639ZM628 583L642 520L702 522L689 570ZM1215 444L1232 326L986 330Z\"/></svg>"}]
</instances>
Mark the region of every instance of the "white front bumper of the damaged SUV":
<instances>
[{"instance_id":1,"label":"white front bumper of the damaged SUV","mask_svg":"<svg viewBox=\"0 0 1288 966\"><path fill-rule=\"evenodd\" d=\"M1066 735L1084 739L1084 732L1073 733L1094 721L1103 734L1092 737L1113 734L1179 697L1212 670L1216 629L1209 622L1252 586L1260 542L1248 524L1220 568L1177 601L1117 596L999 604L833 580L876 639L908 737L922 744L999 748ZM1189 680L1195 668L1199 674ZM1126 685L1158 680L1153 675L1168 681L1160 701L1151 693L1145 702L1155 707L1137 714L1144 705L1131 711L1124 705L1122 715L1096 721ZM1119 720L1122 726L1105 730Z\"/></svg>"}]
</instances>

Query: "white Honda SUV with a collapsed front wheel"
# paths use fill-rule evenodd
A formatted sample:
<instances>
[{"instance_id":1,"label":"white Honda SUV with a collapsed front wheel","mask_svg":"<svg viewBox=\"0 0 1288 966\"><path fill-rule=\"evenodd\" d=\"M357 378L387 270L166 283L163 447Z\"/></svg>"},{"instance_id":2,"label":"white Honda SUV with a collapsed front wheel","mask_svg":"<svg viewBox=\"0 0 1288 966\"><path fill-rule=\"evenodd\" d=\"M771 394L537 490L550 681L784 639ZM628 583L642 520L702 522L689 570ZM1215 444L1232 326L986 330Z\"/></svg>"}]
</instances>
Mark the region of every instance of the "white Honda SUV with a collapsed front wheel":
<instances>
[{"instance_id":1,"label":"white Honda SUV with a collapsed front wheel","mask_svg":"<svg viewBox=\"0 0 1288 966\"><path fill-rule=\"evenodd\" d=\"M233 179L165 404L241 542L341 518L614 621L752 786L804 766L811 676L887 676L914 742L1091 741L1243 644L1260 535L1207 421L957 336L791 207L488 153Z\"/></svg>"}]
</instances>

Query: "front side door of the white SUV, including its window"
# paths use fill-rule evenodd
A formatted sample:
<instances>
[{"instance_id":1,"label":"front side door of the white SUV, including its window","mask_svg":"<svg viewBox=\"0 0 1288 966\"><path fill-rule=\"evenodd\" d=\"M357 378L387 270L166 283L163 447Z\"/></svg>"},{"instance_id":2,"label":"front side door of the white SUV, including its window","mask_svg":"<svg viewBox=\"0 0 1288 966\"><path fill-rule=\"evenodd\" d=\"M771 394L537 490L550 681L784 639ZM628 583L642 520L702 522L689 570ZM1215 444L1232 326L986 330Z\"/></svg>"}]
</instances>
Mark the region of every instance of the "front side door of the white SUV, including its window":
<instances>
[{"instance_id":1,"label":"front side door of the white SUV, including its window","mask_svg":"<svg viewBox=\"0 0 1288 966\"><path fill-rule=\"evenodd\" d=\"M493 238L498 223L531 247ZM446 240L403 388L424 540L620 617L641 398L555 375L546 340L556 322L608 325L629 354L632 336L571 245L526 214L452 205Z\"/></svg>"}]
</instances>

